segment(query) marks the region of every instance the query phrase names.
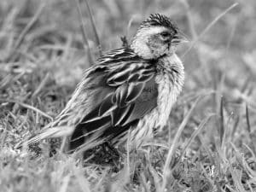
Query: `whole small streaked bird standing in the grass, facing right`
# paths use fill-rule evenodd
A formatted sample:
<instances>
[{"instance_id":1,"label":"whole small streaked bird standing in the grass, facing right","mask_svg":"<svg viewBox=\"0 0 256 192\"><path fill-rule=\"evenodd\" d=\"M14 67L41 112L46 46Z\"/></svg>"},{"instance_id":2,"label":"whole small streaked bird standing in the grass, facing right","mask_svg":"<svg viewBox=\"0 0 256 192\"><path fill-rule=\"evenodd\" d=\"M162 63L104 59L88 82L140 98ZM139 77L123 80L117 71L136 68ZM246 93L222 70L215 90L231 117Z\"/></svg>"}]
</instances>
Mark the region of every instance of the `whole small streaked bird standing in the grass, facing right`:
<instances>
[{"instance_id":1,"label":"whole small streaked bird standing in the grass, facing right","mask_svg":"<svg viewBox=\"0 0 256 192\"><path fill-rule=\"evenodd\" d=\"M73 152L91 143L117 148L130 138L138 147L166 125L183 88L183 63L175 51L184 42L170 18L150 15L131 44L102 55L84 72L66 108L26 144L64 137Z\"/></svg>"}]
</instances>

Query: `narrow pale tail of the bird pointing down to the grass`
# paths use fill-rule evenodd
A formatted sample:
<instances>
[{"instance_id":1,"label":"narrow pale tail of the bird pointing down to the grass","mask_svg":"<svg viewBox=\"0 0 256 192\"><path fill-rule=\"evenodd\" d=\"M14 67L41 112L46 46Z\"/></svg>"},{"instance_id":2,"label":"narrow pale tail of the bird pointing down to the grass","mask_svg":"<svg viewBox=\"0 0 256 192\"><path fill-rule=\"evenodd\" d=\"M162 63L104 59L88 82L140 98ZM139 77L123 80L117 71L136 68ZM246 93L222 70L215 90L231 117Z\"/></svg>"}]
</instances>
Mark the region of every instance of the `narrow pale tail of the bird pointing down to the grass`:
<instances>
[{"instance_id":1,"label":"narrow pale tail of the bird pointing down to the grass","mask_svg":"<svg viewBox=\"0 0 256 192\"><path fill-rule=\"evenodd\" d=\"M33 143L38 143L46 138L54 138L54 137L68 137L73 133L73 126L55 126L55 127L47 127L37 136L34 136L27 140L25 143L22 143L23 146L28 146Z\"/></svg>"}]
</instances>

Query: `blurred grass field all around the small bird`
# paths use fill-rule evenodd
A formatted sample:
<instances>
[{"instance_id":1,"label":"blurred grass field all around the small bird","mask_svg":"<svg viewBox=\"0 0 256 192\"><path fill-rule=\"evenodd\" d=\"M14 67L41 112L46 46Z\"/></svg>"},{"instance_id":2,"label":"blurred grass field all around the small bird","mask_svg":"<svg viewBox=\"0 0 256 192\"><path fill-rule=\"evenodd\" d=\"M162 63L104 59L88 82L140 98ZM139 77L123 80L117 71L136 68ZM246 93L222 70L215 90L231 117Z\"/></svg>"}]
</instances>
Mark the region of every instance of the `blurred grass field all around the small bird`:
<instances>
[{"instance_id":1,"label":"blurred grass field all around the small bird","mask_svg":"<svg viewBox=\"0 0 256 192\"><path fill-rule=\"evenodd\" d=\"M0 191L255 191L256 3L237 3L2 0ZM172 16L192 40L178 49L183 93L154 140L115 170L49 155L48 142L40 155L15 149L64 108L101 50L130 41L150 13Z\"/></svg>"}]
</instances>

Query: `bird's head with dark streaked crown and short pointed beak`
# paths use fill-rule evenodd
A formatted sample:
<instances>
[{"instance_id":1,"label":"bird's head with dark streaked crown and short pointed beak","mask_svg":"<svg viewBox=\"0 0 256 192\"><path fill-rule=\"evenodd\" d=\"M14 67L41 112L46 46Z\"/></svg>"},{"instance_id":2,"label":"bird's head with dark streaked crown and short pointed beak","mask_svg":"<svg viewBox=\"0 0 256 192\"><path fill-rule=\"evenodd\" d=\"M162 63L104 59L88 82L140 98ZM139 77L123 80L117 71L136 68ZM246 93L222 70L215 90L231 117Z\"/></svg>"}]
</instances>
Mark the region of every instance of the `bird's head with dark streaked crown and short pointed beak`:
<instances>
[{"instance_id":1,"label":"bird's head with dark streaked crown and short pointed beak","mask_svg":"<svg viewBox=\"0 0 256 192\"><path fill-rule=\"evenodd\" d=\"M144 59L158 59L170 55L177 44L187 41L173 21L165 15L150 15L138 28L131 49Z\"/></svg>"}]
</instances>

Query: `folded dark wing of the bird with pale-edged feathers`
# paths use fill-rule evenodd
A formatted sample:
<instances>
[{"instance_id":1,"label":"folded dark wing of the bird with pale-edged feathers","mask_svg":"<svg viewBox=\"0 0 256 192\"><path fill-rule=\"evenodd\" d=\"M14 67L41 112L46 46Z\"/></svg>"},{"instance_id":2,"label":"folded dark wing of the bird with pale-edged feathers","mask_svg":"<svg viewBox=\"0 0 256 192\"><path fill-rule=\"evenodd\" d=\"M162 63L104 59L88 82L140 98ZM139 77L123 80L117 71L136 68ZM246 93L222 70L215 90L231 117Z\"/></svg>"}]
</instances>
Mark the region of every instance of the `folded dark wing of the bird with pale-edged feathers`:
<instances>
[{"instance_id":1,"label":"folded dark wing of the bird with pale-edged feathers","mask_svg":"<svg viewBox=\"0 0 256 192\"><path fill-rule=\"evenodd\" d=\"M157 106L155 65L145 61L120 61L101 65L87 79L86 90L95 107L84 115L73 132L71 149L79 147L92 132L98 137L117 137ZM95 81L96 77L102 77Z\"/></svg>"}]
</instances>

